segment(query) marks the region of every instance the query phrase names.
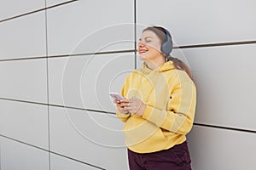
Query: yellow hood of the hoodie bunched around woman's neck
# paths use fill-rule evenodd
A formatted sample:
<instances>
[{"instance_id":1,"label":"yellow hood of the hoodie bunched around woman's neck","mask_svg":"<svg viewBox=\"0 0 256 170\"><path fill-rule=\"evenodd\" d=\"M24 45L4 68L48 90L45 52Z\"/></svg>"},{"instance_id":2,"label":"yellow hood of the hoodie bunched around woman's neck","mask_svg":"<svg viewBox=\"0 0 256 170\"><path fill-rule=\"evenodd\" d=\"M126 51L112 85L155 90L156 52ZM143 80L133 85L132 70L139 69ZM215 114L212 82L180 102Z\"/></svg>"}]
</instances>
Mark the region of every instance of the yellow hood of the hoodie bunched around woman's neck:
<instances>
[{"instance_id":1,"label":"yellow hood of the hoodie bunched around woman's neck","mask_svg":"<svg viewBox=\"0 0 256 170\"><path fill-rule=\"evenodd\" d=\"M164 63L163 65L160 65L158 68L151 70L148 68L147 64L144 62L143 63L143 67L141 69L139 69L139 72L142 72L143 74L148 74L151 72L164 72L164 71L170 71L175 69L175 66L173 65L172 61L167 61L166 63Z\"/></svg>"}]
</instances>

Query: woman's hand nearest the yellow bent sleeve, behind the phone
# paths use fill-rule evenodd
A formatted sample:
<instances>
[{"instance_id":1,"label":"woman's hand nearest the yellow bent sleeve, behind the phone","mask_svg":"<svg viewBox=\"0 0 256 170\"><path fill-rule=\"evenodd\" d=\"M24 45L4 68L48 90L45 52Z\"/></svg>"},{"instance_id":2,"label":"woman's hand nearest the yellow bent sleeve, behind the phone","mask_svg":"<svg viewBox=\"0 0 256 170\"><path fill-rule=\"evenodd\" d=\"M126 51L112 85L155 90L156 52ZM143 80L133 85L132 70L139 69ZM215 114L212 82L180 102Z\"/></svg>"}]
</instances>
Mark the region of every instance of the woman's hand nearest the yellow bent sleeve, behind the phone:
<instances>
[{"instance_id":1,"label":"woman's hand nearest the yellow bent sleeve, behind the phone","mask_svg":"<svg viewBox=\"0 0 256 170\"><path fill-rule=\"evenodd\" d=\"M124 99L129 103L125 107L131 114L136 114L137 116L143 116L143 112L145 111L146 105L142 102L142 100L137 98Z\"/></svg>"}]
</instances>

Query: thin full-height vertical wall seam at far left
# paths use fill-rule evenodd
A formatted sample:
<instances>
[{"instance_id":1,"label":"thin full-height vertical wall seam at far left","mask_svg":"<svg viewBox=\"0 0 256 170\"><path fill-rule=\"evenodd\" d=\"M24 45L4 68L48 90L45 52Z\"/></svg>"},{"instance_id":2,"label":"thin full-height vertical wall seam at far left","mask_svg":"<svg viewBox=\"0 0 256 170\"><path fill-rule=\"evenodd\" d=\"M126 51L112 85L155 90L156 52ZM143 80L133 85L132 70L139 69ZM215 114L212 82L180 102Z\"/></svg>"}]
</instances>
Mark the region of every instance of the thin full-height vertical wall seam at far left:
<instances>
[{"instance_id":1,"label":"thin full-height vertical wall seam at far left","mask_svg":"<svg viewBox=\"0 0 256 170\"><path fill-rule=\"evenodd\" d=\"M46 89L47 89L47 117L48 117L48 162L49 162L49 170L50 170L50 139L49 139L49 64L48 64L48 25L47 25L47 0L45 2L45 50L46 50Z\"/></svg>"}]
</instances>

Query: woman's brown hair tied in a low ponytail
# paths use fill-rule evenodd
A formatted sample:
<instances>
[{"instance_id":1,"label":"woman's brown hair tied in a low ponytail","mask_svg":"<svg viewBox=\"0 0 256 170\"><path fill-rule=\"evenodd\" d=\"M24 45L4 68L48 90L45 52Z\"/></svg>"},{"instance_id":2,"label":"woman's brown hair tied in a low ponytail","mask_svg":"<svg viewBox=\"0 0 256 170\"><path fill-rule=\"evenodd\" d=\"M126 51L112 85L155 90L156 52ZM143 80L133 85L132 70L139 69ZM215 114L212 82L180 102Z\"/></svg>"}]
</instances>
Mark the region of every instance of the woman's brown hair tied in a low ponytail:
<instances>
[{"instance_id":1,"label":"woman's brown hair tied in a low ponytail","mask_svg":"<svg viewBox=\"0 0 256 170\"><path fill-rule=\"evenodd\" d=\"M161 42L166 42L165 30L160 26L149 26L149 27L145 28L143 31L153 31L157 35L157 37L160 38ZM167 61L172 61L174 67L177 70L186 71L186 73L189 75L191 80L194 81L193 75L192 75L191 70L189 69L189 66L186 65L182 60L172 57L171 54L166 56L166 60Z\"/></svg>"}]
</instances>

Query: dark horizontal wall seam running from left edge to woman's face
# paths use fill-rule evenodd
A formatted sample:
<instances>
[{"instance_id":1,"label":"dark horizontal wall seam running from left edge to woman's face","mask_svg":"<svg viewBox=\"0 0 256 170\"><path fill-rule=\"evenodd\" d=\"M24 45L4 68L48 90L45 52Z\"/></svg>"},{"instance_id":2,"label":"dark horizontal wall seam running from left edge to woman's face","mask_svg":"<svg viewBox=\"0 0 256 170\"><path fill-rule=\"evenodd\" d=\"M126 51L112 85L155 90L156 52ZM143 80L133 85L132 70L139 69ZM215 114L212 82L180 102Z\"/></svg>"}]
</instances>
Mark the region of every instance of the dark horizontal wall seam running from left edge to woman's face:
<instances>
[{"instance_id":1,"label":"dark horizontal wall seam running from left edge to woman's face","mask_svg":"<svg viewBox=\"0 0 256 170\"><path fill-rule=\"evenodd\" d=\"M98 53L85 53L85 54L62 54L62 55L51 55L51 56L41 56L41 57L26 57L18 59L0 59L0 61L15 61L15 60L26 60L26 59L52 59L52 58L64 58L64 57L75 57L83 55L100 55L100 54L119 54L119 53L133 53L136 52L134 49L120 50L120 51L106 51Z\"/></svg>"}]
</instances>

